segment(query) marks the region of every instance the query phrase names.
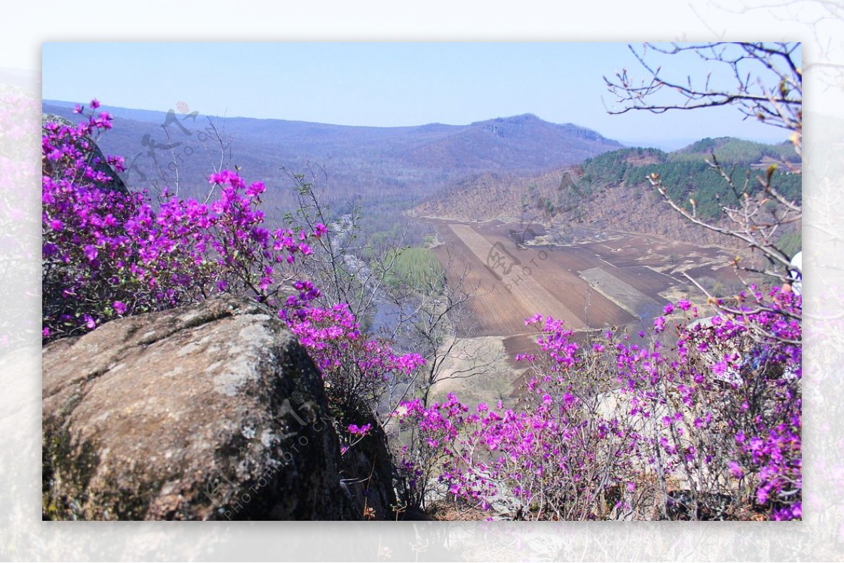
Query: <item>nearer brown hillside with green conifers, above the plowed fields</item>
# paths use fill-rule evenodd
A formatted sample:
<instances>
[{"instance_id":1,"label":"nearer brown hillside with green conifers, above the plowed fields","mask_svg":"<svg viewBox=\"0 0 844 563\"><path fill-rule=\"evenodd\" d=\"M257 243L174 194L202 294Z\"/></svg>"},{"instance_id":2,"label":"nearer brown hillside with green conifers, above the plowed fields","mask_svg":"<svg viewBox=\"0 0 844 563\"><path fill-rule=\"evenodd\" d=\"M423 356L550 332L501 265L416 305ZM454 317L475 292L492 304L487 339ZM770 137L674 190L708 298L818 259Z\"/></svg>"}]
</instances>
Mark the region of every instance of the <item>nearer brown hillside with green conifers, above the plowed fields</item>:
<instances>
[{"instance_id":1,"label":"nearer brown hillside with green conifers, above the plowed fields","mask_svg":"<svg viewBox=\"0 0 844 563\"><path fill-rule=\"evenodd\" d=\"M735 190L706 159L715 156ZM718 203L737 201L744 183L758 182L779 162L771 181L788 199L802 201L800 158L793 146L766 145L730 137L706 138L673 153L656 148L623 148L587 158L580 165L530 178L479 175L452 185L414 209L423 217L484 221L531 217L559 226L582 225L624 232L653 233L707 244L736 244L704 233L668 212L647 177L659 174L668 194L705 220L722 220ZM792 239L795 235L789 235Z\"/></svg>"}]
</instances>

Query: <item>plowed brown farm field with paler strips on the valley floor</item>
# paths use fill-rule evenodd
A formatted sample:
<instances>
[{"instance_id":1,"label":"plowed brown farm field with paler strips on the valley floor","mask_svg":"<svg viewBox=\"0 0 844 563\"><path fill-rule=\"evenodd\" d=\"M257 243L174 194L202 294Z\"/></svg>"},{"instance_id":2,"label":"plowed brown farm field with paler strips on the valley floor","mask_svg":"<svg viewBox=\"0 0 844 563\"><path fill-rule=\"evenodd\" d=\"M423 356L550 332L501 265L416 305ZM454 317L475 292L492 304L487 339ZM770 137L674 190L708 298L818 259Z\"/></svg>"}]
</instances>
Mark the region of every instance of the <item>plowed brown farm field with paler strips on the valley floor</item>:
<instances>
[{"instance_id":1,"label":"plowed brown farm field with paler strips on the valley floor","mask_svg":"<svg viewBox=\"0 0 844 563\"><path fill-rule=\"evenodd\" d=\"M537 313L565 319L577 331L649 322L666 296L695 290L682 271L722 276L713 266L728 261L718 249L652 236L531 246L519 244L514 224L431 222L443 241L436 255L444 265L451 258L449 276L468 268L468 283L479 285L473 316L458 334L508 338L508 349L521 349L535 335L524 320Z\"/></svg>"}]
</instances>

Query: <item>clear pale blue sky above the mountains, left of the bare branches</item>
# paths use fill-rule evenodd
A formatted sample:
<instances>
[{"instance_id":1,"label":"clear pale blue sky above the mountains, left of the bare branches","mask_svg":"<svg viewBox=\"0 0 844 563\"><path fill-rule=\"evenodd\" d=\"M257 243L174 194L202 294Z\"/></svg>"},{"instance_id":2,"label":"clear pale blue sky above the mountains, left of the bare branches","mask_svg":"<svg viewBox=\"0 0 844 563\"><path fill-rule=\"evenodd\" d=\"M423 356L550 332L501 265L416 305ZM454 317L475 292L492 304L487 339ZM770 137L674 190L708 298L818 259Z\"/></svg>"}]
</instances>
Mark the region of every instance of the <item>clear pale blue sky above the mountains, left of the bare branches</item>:
<instances>
[{"instance_id":1,"label":"clear pale blue sky above the mountains, left of the bare branches","mask_svg":"<svg viewBox=\"0 0 844 563\"><path fill-rule=\"evenodd\" d=\"M45 43L42 55L44 99L145 110L183 101L209 115L354 126L533 113L623 142L785 138L732 108L608 115L603 76L626 67L644 78L625 43Z\"/></svg>"}]
</instances>

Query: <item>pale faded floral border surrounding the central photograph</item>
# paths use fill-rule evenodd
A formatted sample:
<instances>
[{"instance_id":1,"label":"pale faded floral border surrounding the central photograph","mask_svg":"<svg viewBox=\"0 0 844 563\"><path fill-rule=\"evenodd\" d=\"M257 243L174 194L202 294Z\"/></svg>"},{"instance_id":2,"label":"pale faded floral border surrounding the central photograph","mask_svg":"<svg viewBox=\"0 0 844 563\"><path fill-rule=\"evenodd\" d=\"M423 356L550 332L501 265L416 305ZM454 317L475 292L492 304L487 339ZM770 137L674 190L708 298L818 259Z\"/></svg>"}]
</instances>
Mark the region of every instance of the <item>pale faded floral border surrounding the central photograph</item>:
<instances>
[{"instance_id":1,"label":"pale faded floral border surrounding the central photograph","mask_svg":"<svg viewBox=\"0 0 844 563\"><path fill-rule=\"evenodd\" d=\"M39 75L0 69L0 558L8 560L842 560L844 559L844 7L744 3L344 4L256 17L214 3L144 3L149 27L102 16L131 39L803 40L803 522L798 523L41 523ZM515 4L518 4L516 6ZM609 4L609 3L608 3ZM56 3L56 6L59 4ZM615 4L614 4L615 6ZM73 7L70 7L73 8ZM445 9L448 8L448 9ZM268 5L269 11L274 9ZM218 29L225 12L227 35ZM603 22L614 12L613 21ZM205 11L205 12L203 12ZM207 13L206 13L207 12ZM317 10L314 10L317 12ZM375 14L373 16L372 14ZM402 15L405 14L405 15ZM410 17L410 14L415 14ZM270 14L265 14L269 16ZM274 16L279 16L278 18ZM42 40L90 40L89 13ZM78 17L79 26L74 26ZM286 18L286 19L285 19ZM416 20L414 22L408 20ZM592 22L584 24L583 22ZM613 23L614 22L614 23ZM159 28L154 23L160 23ZM203 27L204 24L207 24ZM356 24L354 31L349 24ZM51 25L50 22L44 25ZM278 26L281 26L280 28ZM30 26L31 27L31 26ZM54 26L55 27L55 26ZM77 30L73 30L75 29ZM204 31L203 31L204 29ZM281 29L281 30L279 30ZM595 35L590 29L602 29ZM284 34L286 30L286 35ZM125 37L124 37L125 38ZM4 49L8 47L4 46ZM87 62L95 72L95 62ZM609 69L611 71L612 69ZM212 88L213 84L209 84Z\"/></svg>"}]
</instances>

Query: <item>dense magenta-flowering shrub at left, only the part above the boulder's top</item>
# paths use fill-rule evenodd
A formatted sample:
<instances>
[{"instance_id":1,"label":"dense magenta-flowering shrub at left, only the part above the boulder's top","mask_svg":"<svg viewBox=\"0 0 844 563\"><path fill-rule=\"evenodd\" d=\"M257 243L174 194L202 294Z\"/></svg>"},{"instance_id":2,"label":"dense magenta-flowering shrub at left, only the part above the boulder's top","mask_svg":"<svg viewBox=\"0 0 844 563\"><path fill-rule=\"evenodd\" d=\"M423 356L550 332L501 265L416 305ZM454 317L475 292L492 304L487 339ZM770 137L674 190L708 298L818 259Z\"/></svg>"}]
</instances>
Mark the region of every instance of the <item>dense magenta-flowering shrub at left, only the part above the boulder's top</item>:
<instances>
[{"instance_id":1,"label":"dense magenta-flowering shrub at left, only the part above the boulder's top","mask_svg":"<svg viewBox=\"0 0 844 563\"><path fill-rule=\"evenodd\" d=\"M98 107L91 102L91 110ZM82 113L81 108L77 108ZM192 303L215 292L251 293L273 304L308 239L263 226L264 185L229 170L212 174L210 205L164 194L106 190L108 177L90 158L91 139L111 116L89 115L77 127L47 124L42 137L43 337L92 330L127 314ZM122 169L122 159L107 157Z\"/></svg>"}]
</instances>

